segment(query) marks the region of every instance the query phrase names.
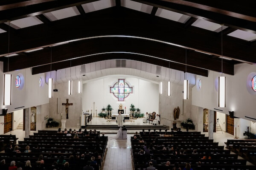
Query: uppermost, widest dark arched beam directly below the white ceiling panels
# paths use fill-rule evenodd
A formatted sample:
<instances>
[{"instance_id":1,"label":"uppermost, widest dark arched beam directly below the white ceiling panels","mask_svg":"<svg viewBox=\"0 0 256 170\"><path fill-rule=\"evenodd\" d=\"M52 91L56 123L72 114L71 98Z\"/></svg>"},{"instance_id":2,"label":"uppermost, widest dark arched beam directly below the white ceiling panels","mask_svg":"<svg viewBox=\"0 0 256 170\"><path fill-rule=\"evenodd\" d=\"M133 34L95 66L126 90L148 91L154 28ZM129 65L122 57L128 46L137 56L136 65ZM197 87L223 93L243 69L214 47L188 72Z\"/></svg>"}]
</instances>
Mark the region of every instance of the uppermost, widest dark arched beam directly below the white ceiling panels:
<instances>
[{"instance_id":1,"label":"uppermost, widest dark arched beam directly below the white ceiling panels","mask_svg":"<svg viewBox=\"0 0 256 170\"><path fill-rule=\"evenodd\" d=\"M115 7L88 13L87 22L75 16L55 21L51 26L44 24L19 30L19 37L11 36L10 53L33 48L47 47L58 42L76 40L100 35L131 35L171 42L188 49L221 56L221 40L212 31L196 27L184 28L182 23L151 16L138 11L122 8L116 13ZM118 21L118 22L117 22ZM69 23L69 24L67 24ZM154 23L154 24L152 24ZM40 34L38 34L38 30ZM27 35L30 35L29 37ZM65 36L63 36L65 35ZM4 40L5 33L0 34ZM38 41L40 40L40 41ZM242 44L242 40L223 37L223 56L243 62L256 63L255 44ZM236 51L234 51L236 49ZM0 56L6 55L7 44L0 41Z\"/></svg>"}]
</instances>

